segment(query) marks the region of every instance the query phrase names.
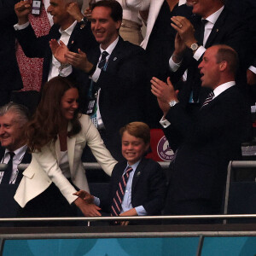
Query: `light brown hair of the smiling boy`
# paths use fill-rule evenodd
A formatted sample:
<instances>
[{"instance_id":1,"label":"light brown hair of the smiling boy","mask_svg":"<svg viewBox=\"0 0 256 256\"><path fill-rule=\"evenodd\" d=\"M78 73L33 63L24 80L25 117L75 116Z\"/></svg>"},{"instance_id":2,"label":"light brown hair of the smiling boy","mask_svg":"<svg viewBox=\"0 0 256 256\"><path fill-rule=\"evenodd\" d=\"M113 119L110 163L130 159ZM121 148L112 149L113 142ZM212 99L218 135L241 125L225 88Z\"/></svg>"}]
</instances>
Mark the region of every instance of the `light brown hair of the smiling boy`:
<instances>
[{"instance_id":1,"label":"light brown hair of the smiling boy","mask_svg":"<svg viewBox=\"0 0 256 256\"><path fill-rule=\"evenodd\" d=\"M150 143L150 128L143 122L132 122L122 127L119 131L121 137L123 137L125 131L134 137L142 138L145 144Z\"/></svg>"}]
</instances>

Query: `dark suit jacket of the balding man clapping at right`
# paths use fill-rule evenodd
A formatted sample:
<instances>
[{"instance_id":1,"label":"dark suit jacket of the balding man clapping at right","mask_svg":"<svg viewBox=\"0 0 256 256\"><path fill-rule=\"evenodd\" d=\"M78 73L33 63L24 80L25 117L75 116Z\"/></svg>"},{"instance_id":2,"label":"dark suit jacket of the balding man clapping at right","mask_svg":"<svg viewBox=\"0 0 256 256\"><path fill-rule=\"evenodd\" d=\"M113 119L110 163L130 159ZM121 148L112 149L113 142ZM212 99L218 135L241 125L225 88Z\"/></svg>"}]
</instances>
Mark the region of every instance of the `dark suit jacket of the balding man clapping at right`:
<instances>
[{"instance_id":1,"label":"dark suit jacket of the balding man clapping at right","mask_svg":"<svg viewBox=\"0 0 256 256\"><path fill-rule=\"evenodd\" d=\"M221 203L230 160L241 158L247 108L236 88L225 90L195 116L177 103L166 115L169 143L177 148L172 162L168 201L207 199ZM167 211L168 212L168 211Z\"/></svg>"}]
</instances>

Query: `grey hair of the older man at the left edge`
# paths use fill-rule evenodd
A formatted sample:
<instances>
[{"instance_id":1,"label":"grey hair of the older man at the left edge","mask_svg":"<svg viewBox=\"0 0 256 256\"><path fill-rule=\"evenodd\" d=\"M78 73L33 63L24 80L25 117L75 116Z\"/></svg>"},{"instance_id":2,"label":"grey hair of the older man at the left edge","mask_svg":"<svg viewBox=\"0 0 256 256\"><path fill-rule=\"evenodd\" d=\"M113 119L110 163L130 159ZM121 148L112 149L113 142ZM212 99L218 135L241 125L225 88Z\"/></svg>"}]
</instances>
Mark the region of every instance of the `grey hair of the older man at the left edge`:
<instances>
[{"instance_id":1,"label":"grey hair of the older man at the left edge","mask_svg":"<svg viewBox=\"0 0 256 256\"><path fill-rule=\"evenodd\" d=\"M0 108L0 116L3 116L4 114L9 112L16 113L19 117L19 119L16 121L19 121L20 123L22 123L22 125L25 124L30 117L28 109L25 106L15 102L9 102L8 104Z\"/></svg>"}]
</instances>

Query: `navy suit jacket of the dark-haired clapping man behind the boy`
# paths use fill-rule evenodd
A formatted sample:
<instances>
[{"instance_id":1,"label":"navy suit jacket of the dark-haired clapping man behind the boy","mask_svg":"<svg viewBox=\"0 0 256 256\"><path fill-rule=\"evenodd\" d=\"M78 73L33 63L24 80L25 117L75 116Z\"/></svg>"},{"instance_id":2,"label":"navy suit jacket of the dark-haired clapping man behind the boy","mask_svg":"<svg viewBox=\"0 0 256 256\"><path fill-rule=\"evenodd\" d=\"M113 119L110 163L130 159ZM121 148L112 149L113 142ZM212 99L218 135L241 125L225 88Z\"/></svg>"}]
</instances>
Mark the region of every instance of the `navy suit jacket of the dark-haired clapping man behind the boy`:
<instances>
[{"instance_id":1,"label":"navy suit jacket of the dark-haired clapping man behind the boy","mask_svg":"<svg viewBox=\"0 0 256 256\"><path fill-rule=\"evenodd\" d=\"M99 47L87 54L94 65L100 55ZM102 70L95 83L95 90L101 88L99 108L106 128L104 143L117 160L122 159L119 129L130 122L143 121L145 72L144 50L119 37L106 71Z\"/></svg>"}]
</instances>

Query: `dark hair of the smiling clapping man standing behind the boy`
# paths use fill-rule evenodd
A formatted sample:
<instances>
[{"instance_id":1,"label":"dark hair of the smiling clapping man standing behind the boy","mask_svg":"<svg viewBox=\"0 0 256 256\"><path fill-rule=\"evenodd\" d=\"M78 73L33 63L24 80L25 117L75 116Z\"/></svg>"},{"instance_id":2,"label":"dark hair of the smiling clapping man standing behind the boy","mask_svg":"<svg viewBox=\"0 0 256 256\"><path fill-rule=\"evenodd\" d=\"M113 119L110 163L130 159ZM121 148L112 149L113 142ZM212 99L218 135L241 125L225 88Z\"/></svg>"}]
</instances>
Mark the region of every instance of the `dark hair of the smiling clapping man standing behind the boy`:
<instances>
[{"instance_id":1,"label":"dark hair of the smiling clapping man standing behind the boy","mask_svg":"<svg viewBox=\"0 0 256 256\"><path fill-rule=\"evenodd\" d=\"M120 3L115 0L102 0L92 5L91 11L96 7L106 7L111 9L110 17L113 21L119 21L123 19L123 9Z\"/></svg>"}]
</instances>

